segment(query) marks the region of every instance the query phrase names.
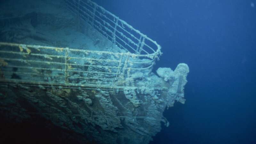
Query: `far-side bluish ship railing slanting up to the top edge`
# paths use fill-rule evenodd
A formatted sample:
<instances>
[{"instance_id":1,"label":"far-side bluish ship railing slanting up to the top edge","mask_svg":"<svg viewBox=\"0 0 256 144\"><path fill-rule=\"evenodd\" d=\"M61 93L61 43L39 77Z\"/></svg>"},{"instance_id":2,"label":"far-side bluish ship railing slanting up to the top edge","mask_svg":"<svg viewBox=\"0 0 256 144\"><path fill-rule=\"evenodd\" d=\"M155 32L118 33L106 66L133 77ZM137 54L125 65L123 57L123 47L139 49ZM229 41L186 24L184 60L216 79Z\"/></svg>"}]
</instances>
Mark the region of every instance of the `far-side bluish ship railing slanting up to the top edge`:
<instances>
[{"instance_id":1,"label":"far-side bluish ship railing slanting up to the top edge","mask_svg":"<svg viewBox=\"0 0 256 144\"><path fill-rule=\"evenodd\" d=\"M127 52L153 57L161 54L159 44L91 0L66 0L66 3L77 17Z\"/></svg>"}]
</instances>

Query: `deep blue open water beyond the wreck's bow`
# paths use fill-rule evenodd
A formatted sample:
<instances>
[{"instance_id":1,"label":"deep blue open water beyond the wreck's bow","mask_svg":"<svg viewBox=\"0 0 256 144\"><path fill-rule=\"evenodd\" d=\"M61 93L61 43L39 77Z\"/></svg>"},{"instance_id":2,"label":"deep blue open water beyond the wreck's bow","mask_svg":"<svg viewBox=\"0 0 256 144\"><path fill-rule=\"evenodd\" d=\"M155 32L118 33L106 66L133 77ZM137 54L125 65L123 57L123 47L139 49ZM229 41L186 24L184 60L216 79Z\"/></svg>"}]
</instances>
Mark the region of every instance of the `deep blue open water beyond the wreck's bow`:
<instances>
[{"instance_id":1,"label":"deep blue open water beyond the wreck's bow","mask_svg":"<svg viewBox=\"0 0 256 144\"><path fill-rule=\"evenodd\" d=\"M156 68L190 68L152 144L256 143L256 0L95 2L162 46Z\"/></svg>"}]
</instances>

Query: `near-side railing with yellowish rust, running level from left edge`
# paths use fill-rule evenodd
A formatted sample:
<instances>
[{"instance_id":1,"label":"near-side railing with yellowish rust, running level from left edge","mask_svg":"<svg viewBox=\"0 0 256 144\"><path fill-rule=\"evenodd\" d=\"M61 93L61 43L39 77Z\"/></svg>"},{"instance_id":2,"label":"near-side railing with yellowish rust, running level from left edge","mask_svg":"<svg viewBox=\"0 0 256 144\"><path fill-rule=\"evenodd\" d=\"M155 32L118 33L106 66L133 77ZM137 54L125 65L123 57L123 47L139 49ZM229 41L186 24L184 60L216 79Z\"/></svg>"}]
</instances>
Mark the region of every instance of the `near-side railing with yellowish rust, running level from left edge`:
<instances>
[{"instance_id":1,"label":"near-side railing with yellowish rust, running level from left edge","mask_svg":"<svg viewBox=\"0 0 256 144\"><path fill-rule=\"evenodd\" d=\"M133 87L131 72L154 65L151 55L12 43L0 43L0 60L1 81L108 89Z\"/></svg>"}]
</instances>

